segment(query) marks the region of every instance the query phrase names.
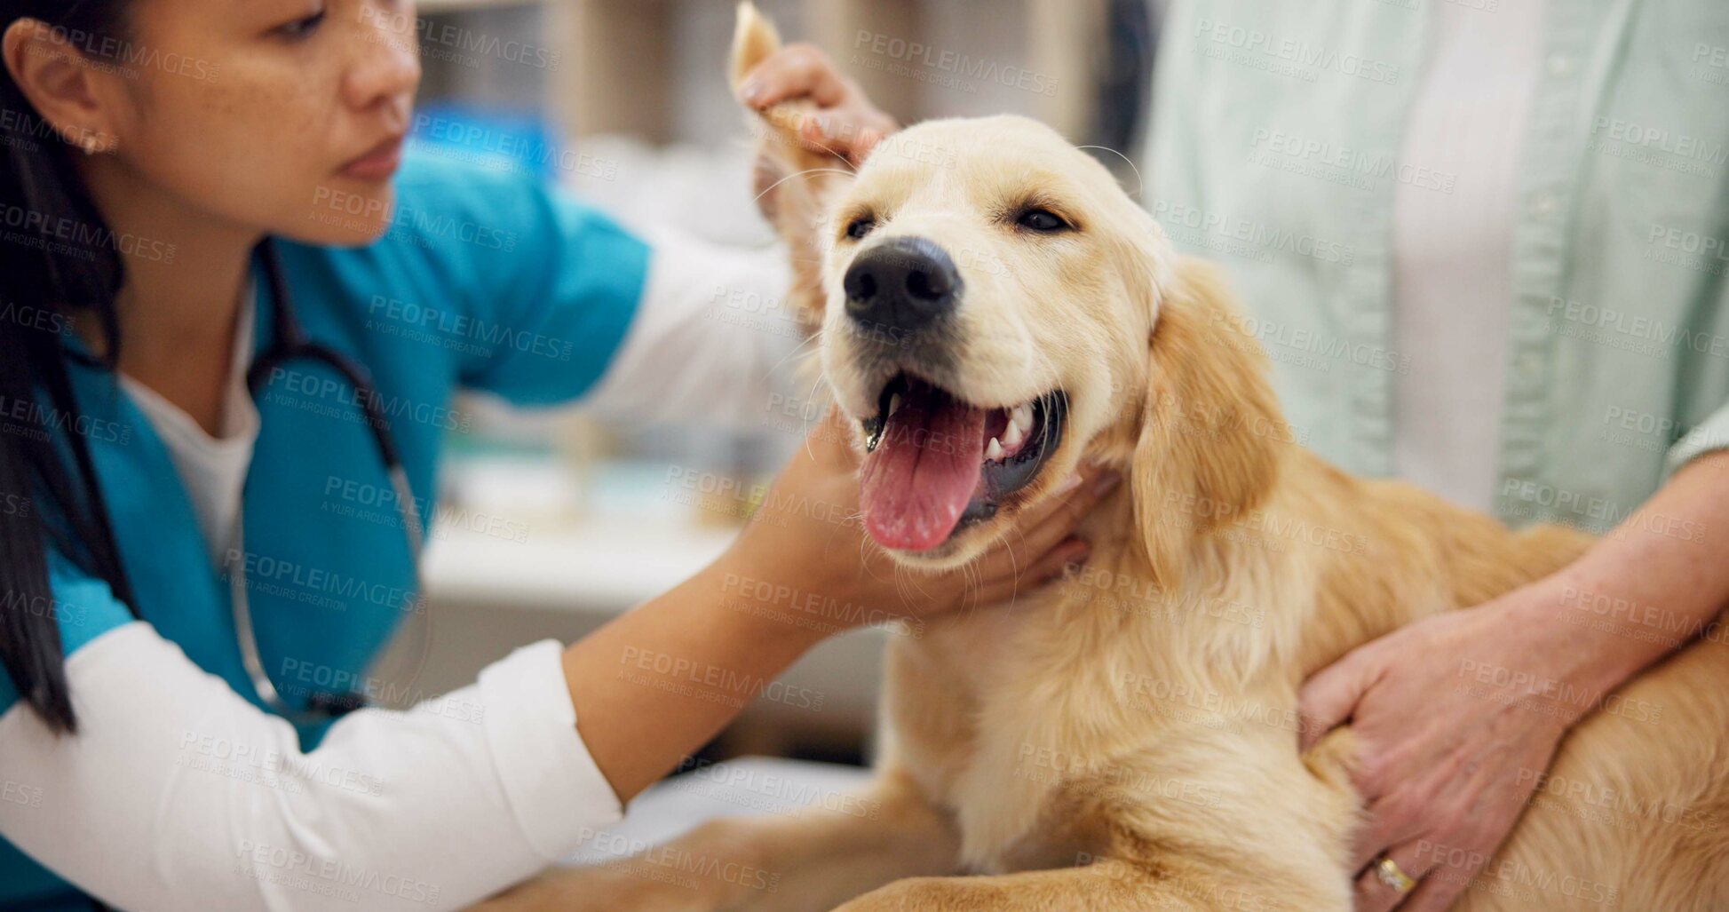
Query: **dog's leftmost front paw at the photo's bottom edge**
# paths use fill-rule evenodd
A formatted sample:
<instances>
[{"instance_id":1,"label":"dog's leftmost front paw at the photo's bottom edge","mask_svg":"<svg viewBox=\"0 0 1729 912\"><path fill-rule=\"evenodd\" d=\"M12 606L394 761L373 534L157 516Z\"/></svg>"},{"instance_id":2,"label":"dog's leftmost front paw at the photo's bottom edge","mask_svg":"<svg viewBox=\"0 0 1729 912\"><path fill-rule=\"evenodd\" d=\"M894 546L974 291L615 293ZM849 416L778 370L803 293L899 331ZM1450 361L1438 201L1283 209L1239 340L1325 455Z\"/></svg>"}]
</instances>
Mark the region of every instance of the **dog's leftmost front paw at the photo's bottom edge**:
<instances>
[{"instance_id":1,"label":"dog's leftmost front paw at the photo's bottom edge","mask_svg":"<svg viewBox=\"0 0 1729 912\"><path fill-rule=\"evenodd\" d=\"M716 912L702 883L655 877L633 864L553 869L517 884L470 912Z\"/></svg>"}]
</instances>

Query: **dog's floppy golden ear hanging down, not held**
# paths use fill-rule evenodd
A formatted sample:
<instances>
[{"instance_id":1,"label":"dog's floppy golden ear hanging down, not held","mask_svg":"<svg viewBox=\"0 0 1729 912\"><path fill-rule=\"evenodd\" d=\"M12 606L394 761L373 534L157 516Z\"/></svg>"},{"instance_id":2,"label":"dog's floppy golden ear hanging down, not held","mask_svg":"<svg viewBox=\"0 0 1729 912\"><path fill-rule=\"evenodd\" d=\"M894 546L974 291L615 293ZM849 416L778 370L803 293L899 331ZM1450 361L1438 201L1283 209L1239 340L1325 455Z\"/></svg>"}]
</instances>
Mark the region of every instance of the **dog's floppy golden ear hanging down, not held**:
<instances>
[{"instance_id":1,"label":"dog's floppy golden ear hanging down, not held","mask_svg":"<svg viewBox=\"0 0 1729 912\"><path fill-rule=\"evenodd\" d=\"M1165 590L1179 585L1196 538L1247 516L1273 488L1286 429L1266 369L1219 268L1179 260L1148 346L1129 481Z\"/></svg>"}]
</instances>

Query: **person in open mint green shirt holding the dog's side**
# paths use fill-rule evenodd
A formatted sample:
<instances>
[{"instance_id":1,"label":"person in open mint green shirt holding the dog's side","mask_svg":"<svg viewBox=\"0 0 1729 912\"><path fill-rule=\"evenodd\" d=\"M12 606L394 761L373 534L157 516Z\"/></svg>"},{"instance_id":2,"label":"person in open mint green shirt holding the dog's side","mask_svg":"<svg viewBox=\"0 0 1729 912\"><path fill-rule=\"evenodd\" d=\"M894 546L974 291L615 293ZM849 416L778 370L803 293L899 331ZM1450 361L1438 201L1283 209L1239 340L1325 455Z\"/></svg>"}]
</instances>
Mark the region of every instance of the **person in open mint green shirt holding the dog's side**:
<instances>
[{"instance_id":1,"label":"person in open mint green shirt holding the dog's side","mask_svg":"<svg viewBox=\"0 0 1729 912\"><path fill-rule=\"evenodd\" d=\"M1229 268L1298 438L1608 533L1309 680L1305 741L1361 744L1357 909L1572 909L1591 870L1485 862L1539 787L1644 813L1542 772L1587 711L1662 723L1613 690L1726 633L1729 5L1177 0L1164 36L1150 206Z\"/></svg>"}]
</instances>

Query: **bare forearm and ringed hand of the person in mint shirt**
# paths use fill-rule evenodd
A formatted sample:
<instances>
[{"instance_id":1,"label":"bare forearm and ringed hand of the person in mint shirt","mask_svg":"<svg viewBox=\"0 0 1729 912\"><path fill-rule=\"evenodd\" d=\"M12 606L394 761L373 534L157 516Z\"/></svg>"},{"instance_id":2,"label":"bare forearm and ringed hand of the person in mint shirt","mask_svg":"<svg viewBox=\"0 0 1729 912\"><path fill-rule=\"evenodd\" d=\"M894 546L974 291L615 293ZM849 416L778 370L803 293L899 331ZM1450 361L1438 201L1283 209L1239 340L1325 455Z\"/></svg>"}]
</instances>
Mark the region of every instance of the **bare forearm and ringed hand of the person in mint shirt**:
<instances>
[{"instance_id":1,"label":"bare forearm and ringed hand of the person in mint shirt","mask_svg":"<svg viewBox=\"0 0 1729 912\"><path fill-rule=\"evenodd\" d=\"M1566 729L1722 611L1724 530L1729 453L1713 453L1561 573L1404 626L1309 678L1304 748L1347 720L1357 742L1352 775L1371 817L1354 846L1368 865L1359 912L1435 912L1471 886ZM1622 620L1655 613L1662 626ZM1413 891L1376 874L1383 857L1418 881Z\"/></svg>"}]
</instances>

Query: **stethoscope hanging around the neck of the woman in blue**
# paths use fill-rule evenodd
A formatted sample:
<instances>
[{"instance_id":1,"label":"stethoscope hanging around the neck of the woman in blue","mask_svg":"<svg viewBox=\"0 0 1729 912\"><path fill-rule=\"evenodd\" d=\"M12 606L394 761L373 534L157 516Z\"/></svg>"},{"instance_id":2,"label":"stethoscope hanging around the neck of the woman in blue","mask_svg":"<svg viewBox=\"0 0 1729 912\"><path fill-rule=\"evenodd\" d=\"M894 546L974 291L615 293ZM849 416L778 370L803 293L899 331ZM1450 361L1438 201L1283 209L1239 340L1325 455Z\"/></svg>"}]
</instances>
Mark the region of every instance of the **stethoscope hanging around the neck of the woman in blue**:
<instances>
[{"instance_id":1,"label":"stethoscope hanging around the neck of the woman in blue","mask_svg":"<svg viewBox=\"0 0 1729 912\"><path fill-rule=\"evenodd\" d=\"M259 242L258 254L265 267L265 280L270 284L270 298L273 305L273 337L265 351L261 351L252 362L252 367L246 372L247 393L254 401L258 401L259 393L270 386L271 376L282 370L285 363L296 360L318 362L335 370L349 384L349 388L353 388L354 398L360 400L360 408L365 412L367 427L372 431L372 440L379 448L379 457L384 460L384 471L391 478L391 488L396 491L396 512L403 523L403 535L408 538L408 559L415 568L415 592L418 595L420 547L425 540L420 528L420 511L415 507L415 491L408 485L408 471L403 469L403 455L396 448L396 440L391 436L389 424L384 419L384 410L379 405L379 393L372 386L372 377L367 374L365 367L354 363L341 351L318 344L306 336L306 329L294 313L294 301L289 296L289 280L282 273L282 260L277 254L275 244L268 237ZM240 663L246 666L246 675L252 680L252 690L258 694L258 699L275 713L303 723L325 722L360 708L365 703L365 694L334 694L315 690L308 697L308 706L299 710L282 699L277 685L271 684L270 673L265 671L265 659L259 656L258 633L252 628L252 607L246 597L244 526L244 519L235 517L233 542L223 564L228 575L230 604L233 607L233 639L240 647Z\"/></svg>"}]
</instances>

